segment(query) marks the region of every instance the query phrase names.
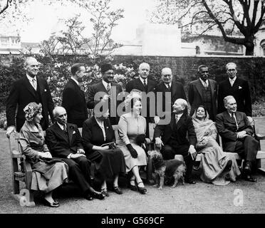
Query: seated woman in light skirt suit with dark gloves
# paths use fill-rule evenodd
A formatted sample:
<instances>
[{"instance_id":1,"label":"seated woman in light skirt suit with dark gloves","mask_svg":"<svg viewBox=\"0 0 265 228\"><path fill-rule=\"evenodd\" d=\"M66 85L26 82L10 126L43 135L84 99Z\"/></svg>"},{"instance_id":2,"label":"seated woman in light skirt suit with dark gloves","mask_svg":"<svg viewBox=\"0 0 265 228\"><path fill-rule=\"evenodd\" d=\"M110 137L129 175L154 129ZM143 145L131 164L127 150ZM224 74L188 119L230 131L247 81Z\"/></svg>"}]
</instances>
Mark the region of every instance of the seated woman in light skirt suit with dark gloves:
<instances>
[{"instance_id":1,"label":"seated woman in light skirt suit with dark gloves","mask_svg":"<svg viewBox=\"0 0 265 228\"><path fill-rule=\"evenodd\" d=\"M120 135L118 147L125 157L126 172L133 172L130 189L145 194L147 190L139 175L139 167L147 165L145 150L140 146L140 141L145 140L146 120L140 115L142 103L139 93L133 92L126 97L125 110L128 113L121 115L118 123Z\"/></svg>"}]
</instances>

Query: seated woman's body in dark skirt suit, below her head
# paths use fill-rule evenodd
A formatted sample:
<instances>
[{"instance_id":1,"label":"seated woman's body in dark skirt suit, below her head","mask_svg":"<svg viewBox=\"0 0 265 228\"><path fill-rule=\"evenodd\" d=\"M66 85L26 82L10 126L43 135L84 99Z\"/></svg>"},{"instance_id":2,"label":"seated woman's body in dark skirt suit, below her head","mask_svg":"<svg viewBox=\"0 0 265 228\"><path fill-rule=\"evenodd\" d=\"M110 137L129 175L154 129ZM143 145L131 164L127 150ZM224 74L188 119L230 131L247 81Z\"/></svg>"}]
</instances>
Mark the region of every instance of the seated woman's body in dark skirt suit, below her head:
<instances>
[{"instance_id":1,"label":"seated woman's body in dark skirt suit, below her head","mask_svg":"<svg viewBox=\"0 0 265 228\"><path fill-rule=\"evenodd\" d=\"M126 172L123 152L115 148L115 134L108 119L109 112L94 112L95 115L83 123L82 137L85 154L88 159L95 162L96 171L103 179L101 192L109 196L106 180L113 178L113 191L123 194L118 187L118 177ZM109 142L113 142L110 145ZM114 145L114 146L113 146Z\"/></svg>"}]
</instances>

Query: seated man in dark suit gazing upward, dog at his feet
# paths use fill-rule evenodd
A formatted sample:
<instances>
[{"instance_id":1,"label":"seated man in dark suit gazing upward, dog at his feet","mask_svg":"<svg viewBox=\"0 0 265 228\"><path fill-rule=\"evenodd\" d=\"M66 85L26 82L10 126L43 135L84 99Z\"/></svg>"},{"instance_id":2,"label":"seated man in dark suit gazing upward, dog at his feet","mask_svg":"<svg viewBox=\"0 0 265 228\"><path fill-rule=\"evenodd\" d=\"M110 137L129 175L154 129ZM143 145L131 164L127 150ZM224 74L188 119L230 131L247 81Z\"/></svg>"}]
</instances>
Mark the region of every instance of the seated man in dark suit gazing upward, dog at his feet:
<instances>
[{"instance_id":1,"label":"seated man in dark suit gazing upward, dog at his feet","mask_svg":"<svg viewBox=\"0 0 265 228\"><path fill-rule=\"evenodd\" d=\"M177 99L173 105L170 123L167 125L158 123L155 126L154 138L155 145L162 148L161 153L165 160L174 159L175 155L184 157L187 166L185 182L195 184L196 182L192 180L192 166L197 157L195 150L197 138L192 118L185 114L186 108L187 101L182 98ZM187 135L189 140L187 140Z\"/></svg>"}]
</instances>

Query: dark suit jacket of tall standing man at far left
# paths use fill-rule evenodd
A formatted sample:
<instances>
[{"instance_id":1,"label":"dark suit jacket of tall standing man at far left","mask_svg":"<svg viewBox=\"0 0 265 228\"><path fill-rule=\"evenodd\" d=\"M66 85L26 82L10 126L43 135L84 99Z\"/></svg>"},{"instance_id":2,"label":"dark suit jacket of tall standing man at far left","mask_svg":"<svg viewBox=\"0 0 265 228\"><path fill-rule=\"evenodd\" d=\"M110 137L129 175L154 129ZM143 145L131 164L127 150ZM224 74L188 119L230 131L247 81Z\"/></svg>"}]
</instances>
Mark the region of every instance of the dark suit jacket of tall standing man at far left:
<instances>
[{"instance_id":1,"label":"dark suit jacket of tall standing man at far left","mask_svg":"<svg viewBox=\"0 0 265 228\"><path fill-rule=\"evenodd\" d=\"M48 115L50 114L51 120L53 121L53 100L51 98L51 92L48 88L48 83L43 78L37 76L37 87L41 94L41 105L42 105L42 115L43 119L41 120L41 126L43 130L48 128ZM25 113L24 108L28 103L36 102L36 91L31 86L31 83L28 81L28 78L24 76L23 78L15 81L9 97L6 100L6 120L7 125L15 125L16 130L24 125L25 122ZM18 105L17 113L16 106ZM16 119L16 121L15 121ZM19 127L19 128L18 128Z\"/></svg>"}]
</instances>

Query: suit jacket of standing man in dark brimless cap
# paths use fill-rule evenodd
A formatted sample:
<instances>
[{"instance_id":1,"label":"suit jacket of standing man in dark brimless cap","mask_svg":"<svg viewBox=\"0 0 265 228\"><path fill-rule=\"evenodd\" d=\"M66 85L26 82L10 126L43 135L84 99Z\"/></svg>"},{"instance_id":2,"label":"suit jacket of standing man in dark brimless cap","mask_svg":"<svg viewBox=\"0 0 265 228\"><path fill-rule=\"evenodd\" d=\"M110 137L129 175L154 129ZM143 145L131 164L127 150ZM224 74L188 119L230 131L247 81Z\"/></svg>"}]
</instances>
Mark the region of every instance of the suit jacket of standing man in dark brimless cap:
<instances>
[{"instance_id":1,"label":"suit jacket of standing man in dark brimless cap","mask_svg":"<svg viewBox=\"0 0 265 228\"><path fill-rule=\"evenodd\" d=\"M117 108L118 108L118 105L123 102L123 100L117 100L117 96L119 93L123 92L123 88L120 85L118 85L117 83L111 83L111 86L112 87L114 86L116 88L116 93L113 93L113 95L116 98L116 102L113 102L114 110L111 110L110 109L111 108L110 102L112 102L112 101L109 100L108 108L110 110L110 120L111 120L111 123L118 124L119 116L117 113ZM108 94L108 91L106 90L102 81L100 81L100 83L97 83L97 84L91 86L88 89L88 103L87 103L88 108L93 109L95 107L95 105L97 103L99 103L100 100L103 98L103 95L100 95L100 98L95 99L95 94L98 92L103 92L103 95ZM113 101L115 101L115 99L113 99ZM116 115L116 117L113 117L113 115Z\"/></svg>"}]
</instances>

